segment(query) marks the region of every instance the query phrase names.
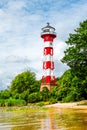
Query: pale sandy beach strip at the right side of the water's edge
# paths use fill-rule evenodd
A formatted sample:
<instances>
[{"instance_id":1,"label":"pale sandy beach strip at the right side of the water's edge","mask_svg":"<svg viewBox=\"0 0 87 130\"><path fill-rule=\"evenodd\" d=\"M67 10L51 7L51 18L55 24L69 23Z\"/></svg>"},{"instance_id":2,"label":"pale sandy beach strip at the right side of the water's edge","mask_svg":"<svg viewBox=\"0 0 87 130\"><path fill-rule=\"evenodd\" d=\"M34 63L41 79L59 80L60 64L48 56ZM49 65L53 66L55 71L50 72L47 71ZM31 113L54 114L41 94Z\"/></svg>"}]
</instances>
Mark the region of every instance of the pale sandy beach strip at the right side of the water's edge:
<instances>
[{"instance_id":1,"label":"pale sandy beach strip at the right side of the water's edge","mask_svg":"<svg viewBox=\"0 0 87 130\"><path fill-rule=\"evenodd\" d=\"M72 103L56 103L45 105L45 108L74 108L74 109L87 109L87 100Z\"/></svg>"}]
</instances>

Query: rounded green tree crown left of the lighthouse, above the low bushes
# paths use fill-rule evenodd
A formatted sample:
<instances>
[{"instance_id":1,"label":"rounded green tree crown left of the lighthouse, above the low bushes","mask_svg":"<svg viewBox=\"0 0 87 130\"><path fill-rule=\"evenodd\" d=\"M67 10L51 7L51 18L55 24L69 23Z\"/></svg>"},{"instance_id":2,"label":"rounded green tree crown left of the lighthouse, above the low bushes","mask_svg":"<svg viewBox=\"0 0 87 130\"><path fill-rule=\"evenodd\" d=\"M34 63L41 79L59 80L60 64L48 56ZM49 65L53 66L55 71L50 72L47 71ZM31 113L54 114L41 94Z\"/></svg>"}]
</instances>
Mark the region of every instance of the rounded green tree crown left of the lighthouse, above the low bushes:
<instances>
[{"instance_id":1,"label":"rounded green tree crown left of the lighthouse, above the low bushes","mask_svg":"<svg viewBox=\"0 0 87 130\"><path fill-rule=\"evenodd\" d=\"M35 88L33 88L33 84L35 83L35 73L30 71L22 72L21 74L18 74L11 83L10 91L15 94L21 94L24 91L28 91L28 93L31 93L31 91Z\"/></svg>"}]
</instances>

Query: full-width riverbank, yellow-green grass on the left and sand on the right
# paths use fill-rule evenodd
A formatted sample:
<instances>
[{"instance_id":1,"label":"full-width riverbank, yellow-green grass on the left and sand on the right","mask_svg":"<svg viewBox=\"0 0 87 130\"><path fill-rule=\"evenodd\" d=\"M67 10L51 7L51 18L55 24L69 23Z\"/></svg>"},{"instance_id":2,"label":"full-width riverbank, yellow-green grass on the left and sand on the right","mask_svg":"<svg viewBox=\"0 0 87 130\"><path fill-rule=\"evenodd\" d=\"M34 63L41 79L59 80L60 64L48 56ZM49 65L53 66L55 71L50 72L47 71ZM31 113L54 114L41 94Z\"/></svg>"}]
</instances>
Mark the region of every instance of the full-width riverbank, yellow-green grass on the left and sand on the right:
<instances>
[{"instance_id":1,"label":"full-width riverbank, yellow-green grass on the left and sand on the right","mask_svg":"<svg viewBox=\"0 0 87 130\"><path fill-rule=\"evenodd\" d=\"M83 109L87 111L87 100L79 101L79 102L72 102L72 103L55 103L55 104L49 104L47 103L30 103L27 106L11 106L11 107L0 107L0 111L2 112L8 112L8 111L14 111L14 112L25 112L25 111L34 111L37 109L49 109L49 108L56 108L56 109Z\"/></svg>"}]
</instances>

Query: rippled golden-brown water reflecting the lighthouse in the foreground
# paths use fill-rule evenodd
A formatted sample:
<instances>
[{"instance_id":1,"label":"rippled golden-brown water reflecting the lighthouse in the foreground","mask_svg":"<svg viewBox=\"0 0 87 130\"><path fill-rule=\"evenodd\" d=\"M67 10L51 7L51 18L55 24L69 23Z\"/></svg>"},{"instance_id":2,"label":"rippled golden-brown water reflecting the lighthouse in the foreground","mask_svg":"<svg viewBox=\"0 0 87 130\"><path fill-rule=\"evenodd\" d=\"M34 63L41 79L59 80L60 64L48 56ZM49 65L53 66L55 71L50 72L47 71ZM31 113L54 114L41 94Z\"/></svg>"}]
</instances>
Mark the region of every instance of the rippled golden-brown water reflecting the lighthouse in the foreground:
<instances>
[{"instance_id":1,"label":"rippled golden-brown water reflecting the lighthouse in the foreground","mask_svg":"<svg viewBox=\"0 0 87 130\"><path fill-rule=\"evenodd\" d=\"M87 130L87 110L28 109L2 112L0 130Z\"/></svg>"}]
</instances>

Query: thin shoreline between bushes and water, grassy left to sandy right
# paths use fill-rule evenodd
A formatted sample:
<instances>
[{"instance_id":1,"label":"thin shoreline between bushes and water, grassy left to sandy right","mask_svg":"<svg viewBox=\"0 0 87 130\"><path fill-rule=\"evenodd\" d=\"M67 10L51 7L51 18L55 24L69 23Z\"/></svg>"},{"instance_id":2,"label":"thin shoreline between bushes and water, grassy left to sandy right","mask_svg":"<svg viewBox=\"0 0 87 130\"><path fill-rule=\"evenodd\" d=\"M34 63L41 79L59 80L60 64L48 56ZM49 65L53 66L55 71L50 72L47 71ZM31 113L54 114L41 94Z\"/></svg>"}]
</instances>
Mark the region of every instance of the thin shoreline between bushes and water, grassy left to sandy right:
<instances>
[{"instance_id":1,"label":"thin shoreline between bushes and water, grassy left to sandy right","mask_svg":"<svg viewBox=\"0 0 87 130\"><path fill-rule=\"evenodd\" d=\"M36 104L30 104L29 106L6 106L0 107L0 110L8 110L8 111L17 111L17 110L26 110L26 109L38 109L38 108L56 108L56 109L83 109L87 110L87 100L82 100L78 102L69 102L69 103L55 103L55 104L47 104L43 106L39 106Z\"/></svg>"}]
</instances>

